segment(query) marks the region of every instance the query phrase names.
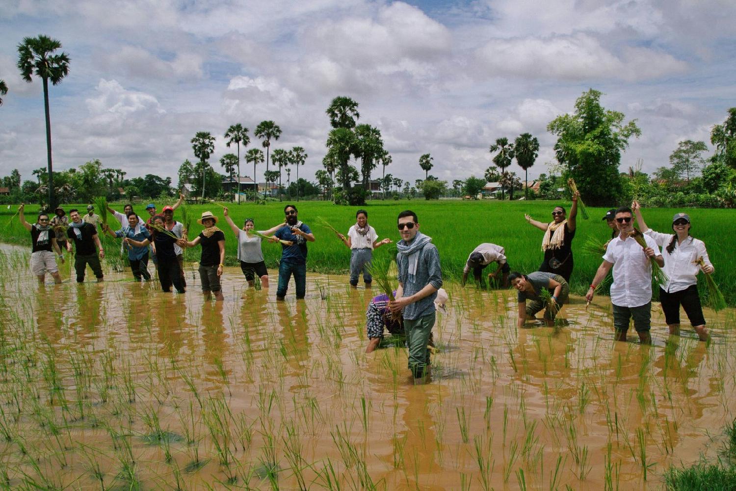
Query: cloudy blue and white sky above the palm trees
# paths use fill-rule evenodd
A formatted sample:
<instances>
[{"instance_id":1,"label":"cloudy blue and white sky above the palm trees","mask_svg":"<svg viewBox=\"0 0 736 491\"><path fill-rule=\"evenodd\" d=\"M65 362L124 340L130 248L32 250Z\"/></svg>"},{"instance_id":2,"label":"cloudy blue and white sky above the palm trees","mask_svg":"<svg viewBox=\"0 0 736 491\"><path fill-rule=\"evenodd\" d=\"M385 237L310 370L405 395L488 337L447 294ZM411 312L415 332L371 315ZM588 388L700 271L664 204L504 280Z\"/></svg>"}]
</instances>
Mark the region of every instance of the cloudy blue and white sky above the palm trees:
<instances>
[{"instance_id":1,"label":"cloudy blue and white sky above the palm trees","mask_svg":"<svg viewBox=\"0 0 736 491\"><path fill-rule=\"evenodd\" d=\"M555 163L547 124L595 88L642 130L620 169L653 172L682 140L710 154L710 128L736 105L735 18L732 0L13 0L0 9L0 175L46 166L42 84L15 66L18 43L39 34L71 57L50 88L55 170L99 158L176 183L198 131L216 137L210 163L223 172L236 152L227 127L248 127L247 148L260 148L252 131L272 120L283 131L272 149L304 147L311 180L325 110L350 96L358 122L381 130L394 177L423 177L424 153L442 180L481 177L496 138L528 132L540 144L531 180Z\"/></svg>"}]
</instances>

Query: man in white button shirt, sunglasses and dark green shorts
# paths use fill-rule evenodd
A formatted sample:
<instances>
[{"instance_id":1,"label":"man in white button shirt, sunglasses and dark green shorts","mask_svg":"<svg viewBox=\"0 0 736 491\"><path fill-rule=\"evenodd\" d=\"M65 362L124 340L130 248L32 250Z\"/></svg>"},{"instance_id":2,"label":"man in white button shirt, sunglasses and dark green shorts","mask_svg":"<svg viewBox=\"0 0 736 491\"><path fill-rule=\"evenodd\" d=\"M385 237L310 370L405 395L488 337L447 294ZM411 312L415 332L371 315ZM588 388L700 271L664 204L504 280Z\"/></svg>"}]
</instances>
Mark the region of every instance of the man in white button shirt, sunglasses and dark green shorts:
<instances>
[{"instance_id":1,"label":"man in white button shirt, sunglasses and dark green shorts","mask_svg":"<svg viewBox=\"0 0 736 491\"><path fill-rule=\"evenodd\" d=\"M595 273L590 289L585 298L590 302L595 288L613 267L613 284L611 285L611 303L613 304L613 325L616 329L616 340L626 341L629 331L629 319L634 318L634 329L639 334L640 342L651 344L649 329L651 327L651 261L657 261L660 267L665 260L659 252L657 243L650 236L644 236L648 247L642 249L639 243L629 236L634 230L631 208L621 207L616 210L615 220L618 237L612 239L603 256L601 266Z\"/></svg>"}]
</instances>

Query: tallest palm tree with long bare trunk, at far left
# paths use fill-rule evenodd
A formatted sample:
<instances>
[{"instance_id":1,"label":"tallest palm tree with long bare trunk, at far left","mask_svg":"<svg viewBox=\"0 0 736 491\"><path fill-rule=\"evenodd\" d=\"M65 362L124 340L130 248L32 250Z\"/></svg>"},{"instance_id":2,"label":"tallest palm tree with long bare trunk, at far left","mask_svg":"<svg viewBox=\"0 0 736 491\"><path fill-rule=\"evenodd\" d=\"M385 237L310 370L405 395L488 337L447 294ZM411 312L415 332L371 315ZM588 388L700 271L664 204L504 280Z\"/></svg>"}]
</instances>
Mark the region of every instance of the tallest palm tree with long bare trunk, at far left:
<instances>
[{"instance_id":1,"label":"tallest palm tree with long bare trunk, at far left","mask_svg":"<svg viewBox=\"0 0 736 491\"><path fill-rule=\"evenodd\" d=\"M49 208L56 208L54 200L54 172L51 161L51 114L49 113L49 80L52 85L61 83L69 73L70 59L62 52L53 54L61 48L58 40L39 35L38 38L23 38L18 44L18 70L26 82L32 82L32 74L43 80L43 108L46 111L46 160L49 167Z\"/></svg>"}]
</instances>

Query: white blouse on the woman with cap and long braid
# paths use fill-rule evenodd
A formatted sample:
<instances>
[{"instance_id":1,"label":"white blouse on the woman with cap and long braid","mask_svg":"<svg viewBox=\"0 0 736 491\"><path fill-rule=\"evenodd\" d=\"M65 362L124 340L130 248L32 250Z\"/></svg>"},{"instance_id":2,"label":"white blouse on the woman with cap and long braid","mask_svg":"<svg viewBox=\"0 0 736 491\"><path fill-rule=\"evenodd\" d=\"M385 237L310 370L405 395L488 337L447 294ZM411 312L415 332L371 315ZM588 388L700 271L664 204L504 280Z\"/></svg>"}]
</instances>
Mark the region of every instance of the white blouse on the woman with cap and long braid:
<instances>
[{"instance_id":1,"label":"white blouse on the woman with cap and long braid","mask_svg":"<svg viewBox=\"0 0 736 491\"><path fill-rule=\"evenodd\" d=\"M662 247L662 255L665 256L665 267L662 270L670 279L666 285L661 285L665 292L682 292L688 286L696 285L701 267L695 261L701 256L705 264L712 266L703 241L688 237L682 241L682 244L676 244L670 254L667 252L667 246L675 236L674 234L655 232L651 228L644 233L654 239L659 247Z\"/></svg>"}]
</instances>

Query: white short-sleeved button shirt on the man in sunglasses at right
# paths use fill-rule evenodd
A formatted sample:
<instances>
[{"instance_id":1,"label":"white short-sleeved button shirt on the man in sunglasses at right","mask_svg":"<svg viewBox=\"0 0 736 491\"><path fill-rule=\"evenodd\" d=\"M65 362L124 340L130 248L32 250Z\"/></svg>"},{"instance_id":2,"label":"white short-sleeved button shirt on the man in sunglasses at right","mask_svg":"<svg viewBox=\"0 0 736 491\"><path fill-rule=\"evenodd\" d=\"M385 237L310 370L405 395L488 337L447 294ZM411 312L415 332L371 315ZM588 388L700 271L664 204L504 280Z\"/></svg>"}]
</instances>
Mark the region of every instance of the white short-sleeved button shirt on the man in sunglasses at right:
<instances>
[{"instance_id":1,"label":"white short-sleeved button shirt on the man in sunglasses at right","mask_svg":"<svg viewBox=\"0 0 736 491\"><path fill-rule=\"evenodd\" d=\"M659 248L650 236L644 236L648 247L657 255ZM640 307L651 301L651 261L637 241L618 236L612 239L606 253L605 261L613 264L613 284L611 285L611 302L619 307Z\"/></svg>"}]
</instances>

